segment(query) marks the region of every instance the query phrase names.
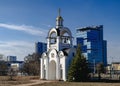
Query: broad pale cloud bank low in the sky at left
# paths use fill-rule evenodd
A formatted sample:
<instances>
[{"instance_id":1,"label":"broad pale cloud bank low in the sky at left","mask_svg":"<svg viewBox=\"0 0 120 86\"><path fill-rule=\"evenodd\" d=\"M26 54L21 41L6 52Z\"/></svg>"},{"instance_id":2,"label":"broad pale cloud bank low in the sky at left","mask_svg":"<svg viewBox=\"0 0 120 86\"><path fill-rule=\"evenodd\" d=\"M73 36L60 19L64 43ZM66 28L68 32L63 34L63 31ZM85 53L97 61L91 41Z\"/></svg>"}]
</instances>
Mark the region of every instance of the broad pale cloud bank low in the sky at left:
<instances>
[{"instance_id":1,"label":"broad pale cloud bank low in the sky at left","mask_svg":"<svg viewBox=\"0 0 120 86\"><path fill-rule=\"evenodd\" d=\"M0 54L15 55L18 60L24 60L28 54L35 51L34 43L27 41L0 41Z\"/></svg>"}]
</instances>

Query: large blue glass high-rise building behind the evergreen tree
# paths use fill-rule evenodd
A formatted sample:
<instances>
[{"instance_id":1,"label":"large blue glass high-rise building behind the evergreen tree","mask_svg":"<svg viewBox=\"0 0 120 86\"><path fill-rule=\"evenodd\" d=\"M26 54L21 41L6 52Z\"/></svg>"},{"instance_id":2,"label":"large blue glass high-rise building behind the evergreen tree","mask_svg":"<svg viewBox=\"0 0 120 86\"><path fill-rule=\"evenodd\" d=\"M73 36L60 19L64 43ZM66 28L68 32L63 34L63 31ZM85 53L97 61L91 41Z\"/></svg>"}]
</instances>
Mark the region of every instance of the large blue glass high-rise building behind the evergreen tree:
<instances>
[{"instance_id":1,"label":"large blue glass high-rise building behind the evergreen tree","mask_svg":"<svg viewBox=\"0 0 120 86\"><path fill-rule=\"evenodd\" d=\"M77 29L77 44L93 68L99 62L107 65L107 41L103 40L103 25Z\"/></svg>"}]
</instances>

